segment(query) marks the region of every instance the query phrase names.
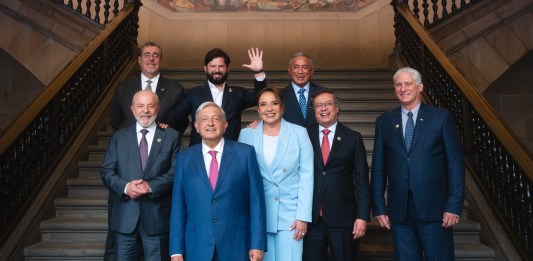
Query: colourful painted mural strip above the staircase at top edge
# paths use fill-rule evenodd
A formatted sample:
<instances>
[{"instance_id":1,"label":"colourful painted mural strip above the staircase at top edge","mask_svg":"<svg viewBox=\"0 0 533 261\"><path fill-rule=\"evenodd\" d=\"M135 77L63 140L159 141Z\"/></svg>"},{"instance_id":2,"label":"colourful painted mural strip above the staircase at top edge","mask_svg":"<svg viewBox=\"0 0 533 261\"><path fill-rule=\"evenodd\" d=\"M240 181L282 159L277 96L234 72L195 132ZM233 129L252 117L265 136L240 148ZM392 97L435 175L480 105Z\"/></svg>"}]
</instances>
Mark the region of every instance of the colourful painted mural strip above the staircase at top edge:
<instances>
[{"instance_id":1,"label":"colourful painted mural strip above the staircase at top edge","mask_svg":"<svg viewBox=\"0 0 533 261\"><path fill-rule=\"evenodd\" d=\"M350 12L376 0L152 0L175 12Z\"/></svg>"}]
</instances>

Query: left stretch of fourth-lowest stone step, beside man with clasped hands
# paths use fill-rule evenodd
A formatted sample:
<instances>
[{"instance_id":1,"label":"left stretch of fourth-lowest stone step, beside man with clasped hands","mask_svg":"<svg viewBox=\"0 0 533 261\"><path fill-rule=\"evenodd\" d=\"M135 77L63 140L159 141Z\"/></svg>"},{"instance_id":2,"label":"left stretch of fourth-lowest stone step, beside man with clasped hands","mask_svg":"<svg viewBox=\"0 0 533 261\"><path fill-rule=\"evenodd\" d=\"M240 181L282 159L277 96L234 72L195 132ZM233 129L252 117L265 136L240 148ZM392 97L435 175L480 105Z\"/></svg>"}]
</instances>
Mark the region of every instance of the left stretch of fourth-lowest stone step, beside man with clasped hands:
<instances>
[{"instance_id":1,"label":"left stretch of fourth-lowest stone step, beside man with clasped hands","mask_svg":"<svg viewBox=\"0 0 533 261\"><path fill-rule=\"evenodd\" d=\"M73 178L67 180L69 197L103 197L107 198L107 188L98 178Z\"/></svg>"}]
</instances>

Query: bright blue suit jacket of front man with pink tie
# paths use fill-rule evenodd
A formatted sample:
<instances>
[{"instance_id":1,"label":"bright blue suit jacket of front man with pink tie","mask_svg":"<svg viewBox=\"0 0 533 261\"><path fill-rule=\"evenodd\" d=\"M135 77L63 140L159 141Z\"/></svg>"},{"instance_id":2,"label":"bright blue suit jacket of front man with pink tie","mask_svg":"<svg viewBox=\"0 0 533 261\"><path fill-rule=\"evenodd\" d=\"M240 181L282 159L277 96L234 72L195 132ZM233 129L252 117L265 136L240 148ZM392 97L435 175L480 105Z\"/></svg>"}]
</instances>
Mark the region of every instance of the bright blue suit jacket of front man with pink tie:
<instances>
[{"instance_id":1,"label":"bright blue suit jacket of front man with pink tie","mask_svg":"<svg viewBox=\"0 0 533 261\"><path fill-rule=\"evenodd\" d=\"M266 250L265 194L254 148L225 140L215 190L197 144L176 158L170 255L185 260L248 260Z\"/></svg>"}]
</instances>

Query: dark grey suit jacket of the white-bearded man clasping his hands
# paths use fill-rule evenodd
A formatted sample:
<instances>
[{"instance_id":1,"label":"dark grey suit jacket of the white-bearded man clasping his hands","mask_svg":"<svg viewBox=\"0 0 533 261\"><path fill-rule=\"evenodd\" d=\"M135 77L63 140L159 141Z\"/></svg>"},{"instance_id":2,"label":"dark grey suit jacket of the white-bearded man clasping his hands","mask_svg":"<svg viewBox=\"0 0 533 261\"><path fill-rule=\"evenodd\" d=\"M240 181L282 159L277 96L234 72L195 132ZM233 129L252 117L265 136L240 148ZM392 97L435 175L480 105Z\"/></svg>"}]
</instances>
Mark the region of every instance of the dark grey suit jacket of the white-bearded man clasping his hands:
<instances>
[{"instance_id":1,"label":"dark grey suit jacket of the white-bearded man clasping his hands","mask_svg":"<svg viewBox=\"0 0 533 261\"><path fill-rule=\"evenodd\" d=\"M135 125L113 134L100 171L112 201L111 229L131 233L140 219L148 234L168 233L174 156L179 149L179 139L175 130L157 128L146 168L142 171ZM148 182L152 193L137 199L124 194L129 181L141 178Z\"/></svg>"}]
</instances>

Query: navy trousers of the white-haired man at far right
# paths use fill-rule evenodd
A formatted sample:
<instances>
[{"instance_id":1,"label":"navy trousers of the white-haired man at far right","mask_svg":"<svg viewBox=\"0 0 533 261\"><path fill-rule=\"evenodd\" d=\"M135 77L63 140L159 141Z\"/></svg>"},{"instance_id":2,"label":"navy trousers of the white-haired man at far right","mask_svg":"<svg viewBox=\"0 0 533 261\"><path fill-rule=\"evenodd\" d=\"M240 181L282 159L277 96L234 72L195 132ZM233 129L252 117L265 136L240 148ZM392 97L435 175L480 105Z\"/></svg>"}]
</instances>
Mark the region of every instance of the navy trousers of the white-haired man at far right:
<instances>
[{"instance_id":1,"label":"navy trousers of the white-haired man at far right","mask_svg":"<svg viewBox=\"0 0 533 261\"><path fill-rule=\"evenodd\" d=\"M411 193L405 220L392 222L392 242L396 261L454 260L452 228L443 228L442 221L420 220Z\"/></svg>"}]
</instances>

